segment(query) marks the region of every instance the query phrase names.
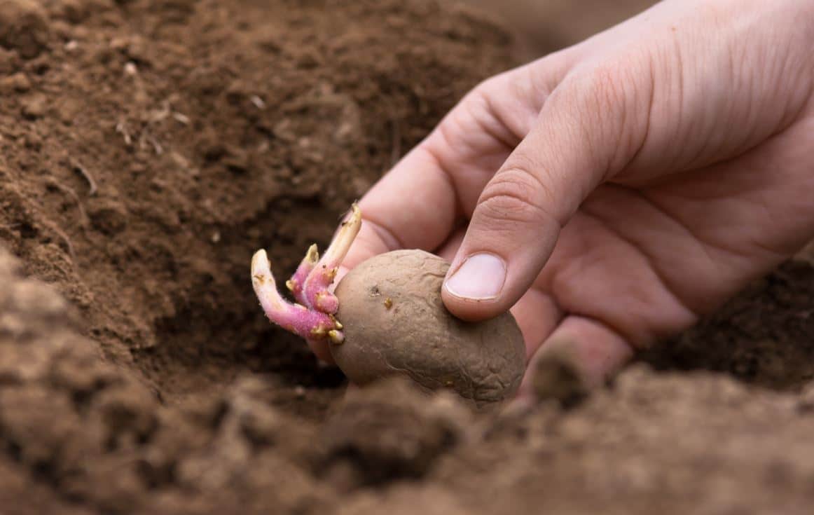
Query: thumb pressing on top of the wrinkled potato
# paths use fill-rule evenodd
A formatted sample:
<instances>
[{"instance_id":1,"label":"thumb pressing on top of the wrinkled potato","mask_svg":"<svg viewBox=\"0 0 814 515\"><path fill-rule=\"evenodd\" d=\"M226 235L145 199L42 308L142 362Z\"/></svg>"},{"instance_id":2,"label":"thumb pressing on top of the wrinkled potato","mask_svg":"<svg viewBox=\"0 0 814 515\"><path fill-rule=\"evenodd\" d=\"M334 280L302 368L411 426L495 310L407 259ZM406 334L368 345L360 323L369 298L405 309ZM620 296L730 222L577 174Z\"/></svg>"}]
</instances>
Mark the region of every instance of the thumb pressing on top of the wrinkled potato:
<instances>
[{"instance_id":1,"label":"thumb pressing on top of the wrinkled potato","mask_svg":"<svg viewBox=\"0 0 814 515\"><path fill-rule=\"evenodd\" d=\"M603 67L558 85L484 187L441 292L454 315L481 320L508 311L539 275L562 225L641 147L650 93L631 87L629 76L615 88L615 73Z\"/></svg>"}]
</instances>

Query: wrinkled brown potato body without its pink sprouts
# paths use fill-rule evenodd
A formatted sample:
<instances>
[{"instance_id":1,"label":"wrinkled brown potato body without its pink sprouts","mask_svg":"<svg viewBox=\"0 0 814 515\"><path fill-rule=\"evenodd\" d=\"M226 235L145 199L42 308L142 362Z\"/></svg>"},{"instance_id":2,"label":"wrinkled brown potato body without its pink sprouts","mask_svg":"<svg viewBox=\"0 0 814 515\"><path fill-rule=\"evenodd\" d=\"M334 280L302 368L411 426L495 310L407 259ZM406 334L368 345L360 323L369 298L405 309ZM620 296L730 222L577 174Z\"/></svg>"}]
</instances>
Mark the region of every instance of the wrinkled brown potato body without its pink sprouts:
<instances>
[{"instance_id":1,"label":"wrinkled brown potato body without its pink sprouts","mask_svg":"<svg viewBox=\"0 0 814 515\"><path fill-rule=\"evenodd\" d=\"M428 390L451 388L476 406L518 390L523 334L510 313L457 319L441 301L449 263L428 252L392 251L353 268L336 287L345 341L331 345L351 382L406 374Z\"/></svg>"}]
</instances>

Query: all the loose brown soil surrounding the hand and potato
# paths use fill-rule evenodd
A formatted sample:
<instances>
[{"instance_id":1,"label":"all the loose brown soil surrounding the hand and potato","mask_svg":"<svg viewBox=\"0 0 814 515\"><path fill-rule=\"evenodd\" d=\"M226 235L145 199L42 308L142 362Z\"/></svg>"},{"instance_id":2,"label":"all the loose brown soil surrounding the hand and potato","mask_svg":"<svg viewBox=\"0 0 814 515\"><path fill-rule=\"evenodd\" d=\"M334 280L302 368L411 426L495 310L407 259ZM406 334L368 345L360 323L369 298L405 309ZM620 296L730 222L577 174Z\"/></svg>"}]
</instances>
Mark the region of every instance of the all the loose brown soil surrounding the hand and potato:
<instances>
[{"instance_id":1,"label":"all the loose brown soil surrounding the hand and potato","mask_svg":"<svg viewBox=\"0 0 814 515\"><path fill-rule=\"evenodd\" d=\"M810 513L814 251L603 391L354 391L269 326L483 78L429 0L0 0L0 513Z\"/></svg>"}]
</instances>

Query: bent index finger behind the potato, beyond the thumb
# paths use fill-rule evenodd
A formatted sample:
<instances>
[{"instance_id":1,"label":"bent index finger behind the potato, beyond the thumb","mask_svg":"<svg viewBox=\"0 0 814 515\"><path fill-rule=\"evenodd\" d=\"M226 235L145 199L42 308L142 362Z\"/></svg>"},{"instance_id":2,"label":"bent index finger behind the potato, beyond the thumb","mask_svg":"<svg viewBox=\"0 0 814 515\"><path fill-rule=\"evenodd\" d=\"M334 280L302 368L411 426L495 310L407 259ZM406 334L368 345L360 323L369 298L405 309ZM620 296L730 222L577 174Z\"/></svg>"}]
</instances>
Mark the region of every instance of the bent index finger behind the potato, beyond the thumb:
<instances>
[{"instance_id":1,"label":"bent index finger behind the potato, beyond the thumb","mask_svg":"<svg viewBox=\"0 0 814 515\"><path fill-rule=\"evenodd\" d=\"M434 251L526 135L540 109L528 67L485 81L361 199L344 267L397 249Z\"/></svg>"}]
</instances>

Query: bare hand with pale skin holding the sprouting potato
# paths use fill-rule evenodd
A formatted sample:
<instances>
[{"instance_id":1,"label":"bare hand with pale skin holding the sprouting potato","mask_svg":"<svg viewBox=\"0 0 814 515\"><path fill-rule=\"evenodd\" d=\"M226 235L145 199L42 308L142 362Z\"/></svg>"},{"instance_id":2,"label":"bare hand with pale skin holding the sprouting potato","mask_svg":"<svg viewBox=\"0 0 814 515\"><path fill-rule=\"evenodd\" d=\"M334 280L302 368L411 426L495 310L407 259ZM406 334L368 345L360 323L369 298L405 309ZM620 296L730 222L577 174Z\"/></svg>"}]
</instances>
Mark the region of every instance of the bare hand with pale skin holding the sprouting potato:
<instances>
[{"instance_id":1,"label":"bare hand with pale skin holding the sprouting potato","mask_svg":"<svg viewBox=\"0 0 814 515\"><path fill-rule=\"evenodd\" d=\"M814 2L667 0L493 77L361 200L344 265L435 251L451 312L511 308L600 382L814 238L812 48Z\"/></svg>"}]
</instances>

